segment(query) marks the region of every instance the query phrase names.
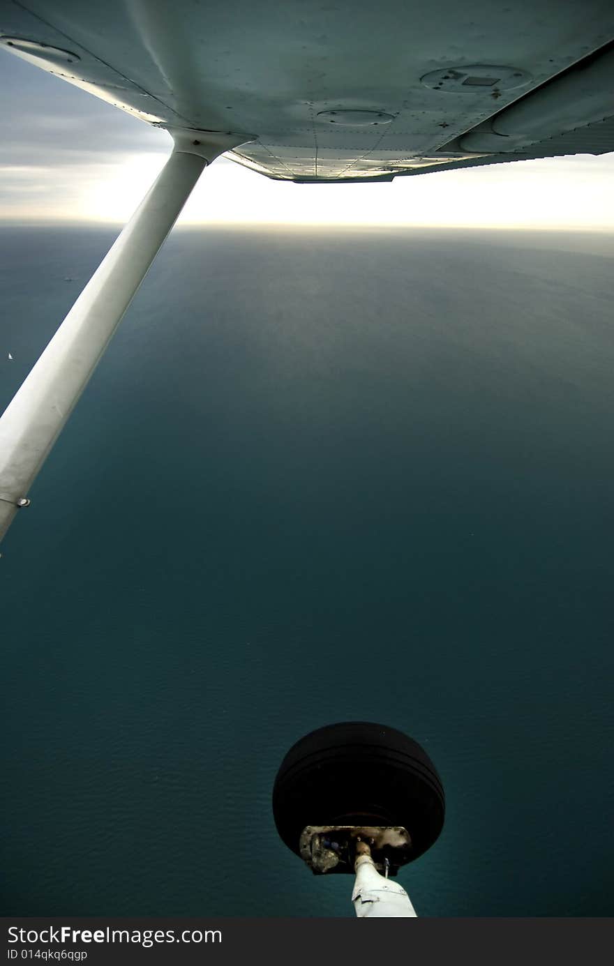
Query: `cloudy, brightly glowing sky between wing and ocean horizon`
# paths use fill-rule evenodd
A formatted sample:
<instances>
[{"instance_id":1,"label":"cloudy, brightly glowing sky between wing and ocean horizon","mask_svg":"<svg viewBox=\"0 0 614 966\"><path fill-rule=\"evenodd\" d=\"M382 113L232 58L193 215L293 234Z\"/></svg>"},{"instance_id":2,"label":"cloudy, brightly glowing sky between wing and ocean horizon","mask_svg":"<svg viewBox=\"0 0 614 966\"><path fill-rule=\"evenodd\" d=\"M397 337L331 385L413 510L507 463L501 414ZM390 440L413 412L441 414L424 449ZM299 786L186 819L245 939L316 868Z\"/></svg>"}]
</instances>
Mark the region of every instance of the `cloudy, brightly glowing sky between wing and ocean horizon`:
<instances>
[{"instance_id":1,"label":"cloudy, brightly glowing sky between wing and ocean horizon","mask_svg":"<svg viewBox=\"0 0 614 966\"><path fill-rule=\"evenodd\" d=\"M171 149L152 128L0 51L0 222L125 222ZM614 154L544 158L370 185L275 182L220 157L183 224L612 230Z\"/></svg>"}]
</instances>

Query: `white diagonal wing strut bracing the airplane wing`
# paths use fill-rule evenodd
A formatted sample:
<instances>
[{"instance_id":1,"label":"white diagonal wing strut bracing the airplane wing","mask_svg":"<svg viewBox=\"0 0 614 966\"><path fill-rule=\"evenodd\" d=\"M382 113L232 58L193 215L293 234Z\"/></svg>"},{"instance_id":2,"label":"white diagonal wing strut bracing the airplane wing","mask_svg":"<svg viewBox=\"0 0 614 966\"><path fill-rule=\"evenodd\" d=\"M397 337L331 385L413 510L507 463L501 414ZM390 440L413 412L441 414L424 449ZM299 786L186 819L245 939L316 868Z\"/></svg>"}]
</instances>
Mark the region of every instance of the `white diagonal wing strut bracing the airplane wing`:
<instances>
[{"instance_id":1,"label":"white diagonal wing strut bracing the airplane wing","mask_svg":"<svg viewBox=\"0 0 614 966\"><path fill-rule=\"evenodd\" d=\"M206 164L245 134L171 130L174 150L0 418L0 540Z\"/></svg>"}]
</instances>

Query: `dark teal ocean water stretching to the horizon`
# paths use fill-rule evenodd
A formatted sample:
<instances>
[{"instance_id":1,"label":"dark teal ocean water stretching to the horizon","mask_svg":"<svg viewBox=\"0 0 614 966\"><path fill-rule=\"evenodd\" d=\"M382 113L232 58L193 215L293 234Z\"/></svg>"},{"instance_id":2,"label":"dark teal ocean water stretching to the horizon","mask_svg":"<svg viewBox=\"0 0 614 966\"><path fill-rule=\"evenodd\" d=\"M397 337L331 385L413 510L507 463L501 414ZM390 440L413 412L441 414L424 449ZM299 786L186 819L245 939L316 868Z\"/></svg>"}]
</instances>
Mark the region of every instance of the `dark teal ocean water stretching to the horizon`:
<instances>
[{"instance_id":1,"label":"dark teal ocean water stretching to the horizon","mask_svg":"<svg viewBox=\"0 0 614 966\"><path fill-rule=\"evenodd\" d=\"M113 238L0 231L2 407ZM419 915L612 914L613 278L605 234L171 236L2 548L5 915L353 915L270 804L343 720L442 776Z\"/></svg>"}]
</instances>

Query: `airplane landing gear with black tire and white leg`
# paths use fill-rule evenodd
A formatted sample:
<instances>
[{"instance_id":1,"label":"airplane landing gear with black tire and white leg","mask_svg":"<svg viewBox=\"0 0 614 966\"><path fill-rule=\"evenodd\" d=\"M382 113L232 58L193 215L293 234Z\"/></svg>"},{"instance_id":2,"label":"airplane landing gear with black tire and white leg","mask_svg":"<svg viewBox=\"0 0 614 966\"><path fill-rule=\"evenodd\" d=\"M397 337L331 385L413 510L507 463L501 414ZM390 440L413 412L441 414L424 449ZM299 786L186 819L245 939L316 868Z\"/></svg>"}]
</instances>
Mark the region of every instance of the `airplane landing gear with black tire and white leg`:
<instances>
[{"instance_id":1,"label":"airplane landing gear with black tire and white leg","mask_svg":"<svg viewBox=\"0 0 614 966\"><path fill-rule=\"evenodd\" d=\"M444 812L441 780L421 746L365 722L307 734L285 755L273 789L280 838L314 874L355 872L360 917L416 915L390 877L430 848Z\"/></svg>"}]
</instances>

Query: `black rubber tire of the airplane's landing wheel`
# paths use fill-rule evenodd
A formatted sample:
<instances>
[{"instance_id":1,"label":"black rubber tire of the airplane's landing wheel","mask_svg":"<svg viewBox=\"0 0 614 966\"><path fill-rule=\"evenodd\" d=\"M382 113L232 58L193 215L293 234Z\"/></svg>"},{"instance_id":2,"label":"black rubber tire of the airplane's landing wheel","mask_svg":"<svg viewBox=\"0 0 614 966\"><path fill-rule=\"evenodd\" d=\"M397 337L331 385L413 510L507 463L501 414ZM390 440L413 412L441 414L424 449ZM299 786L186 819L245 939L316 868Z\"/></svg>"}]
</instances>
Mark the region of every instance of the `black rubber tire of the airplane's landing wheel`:
<instances>
[{"instance_id":1,"label":"black rubber tire of the airplane's landing wheel","mask_svg":"<svg viewBox=\"0 0 614 966\"><path fill-rule=\"evenodd\" d=\"M280 838L297 855L307 825L402 825L411 861L444 824L444 789L420 745L395 728L341 722L293 745L273 788Z\"/></svg>"}]
</instances>

